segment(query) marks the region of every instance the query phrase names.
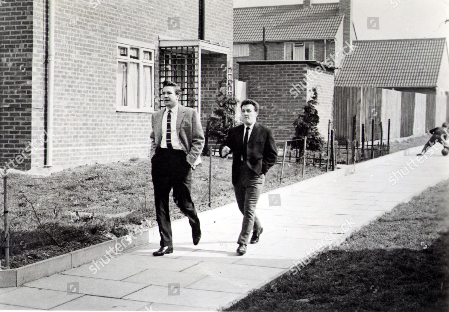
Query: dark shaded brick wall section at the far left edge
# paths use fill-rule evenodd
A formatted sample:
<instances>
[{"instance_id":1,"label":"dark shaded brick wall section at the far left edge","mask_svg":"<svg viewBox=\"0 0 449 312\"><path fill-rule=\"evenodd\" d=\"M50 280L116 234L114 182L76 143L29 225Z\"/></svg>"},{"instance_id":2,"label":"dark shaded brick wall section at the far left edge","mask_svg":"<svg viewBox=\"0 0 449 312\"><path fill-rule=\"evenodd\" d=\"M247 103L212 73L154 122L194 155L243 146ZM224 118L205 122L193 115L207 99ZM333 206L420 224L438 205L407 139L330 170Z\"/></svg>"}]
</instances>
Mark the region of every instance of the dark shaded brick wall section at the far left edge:
<instances>
[{"instance_id":1,"label":"dark shaded brick wall section at the far left edge","mask_svg":"<svg viewBox=\"0 0 449 312\"><path fill-rule=\"evenodd\" d=\"M31 167L29 153L18 154L31 140L32 14L31 1L1 2L0 169Z\"/></svg>"}]
</instances>

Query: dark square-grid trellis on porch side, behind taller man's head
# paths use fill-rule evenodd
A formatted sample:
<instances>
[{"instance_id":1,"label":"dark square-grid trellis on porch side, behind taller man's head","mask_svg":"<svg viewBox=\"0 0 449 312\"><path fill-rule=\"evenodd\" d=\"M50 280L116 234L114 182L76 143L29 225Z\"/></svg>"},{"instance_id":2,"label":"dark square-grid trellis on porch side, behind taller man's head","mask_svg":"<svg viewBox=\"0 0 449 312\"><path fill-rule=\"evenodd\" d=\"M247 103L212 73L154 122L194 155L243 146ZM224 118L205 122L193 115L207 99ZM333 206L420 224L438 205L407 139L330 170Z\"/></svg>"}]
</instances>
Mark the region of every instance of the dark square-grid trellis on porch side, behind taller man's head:
<instances>
[{"instance_id":1,"label":"dark square-grid trellis on porch side, behind taller man's head","mask_svg":"<svg viewBox=\"0 0 449 312\"><path fill-rule=\"evenodd\" d=\"M199 98L199 48L198 46L163 47L160 48L159 60L159 105L161 101L162 83L171 80L182 89L180 104L198 110Z\"/></svg>"}]
</instances>

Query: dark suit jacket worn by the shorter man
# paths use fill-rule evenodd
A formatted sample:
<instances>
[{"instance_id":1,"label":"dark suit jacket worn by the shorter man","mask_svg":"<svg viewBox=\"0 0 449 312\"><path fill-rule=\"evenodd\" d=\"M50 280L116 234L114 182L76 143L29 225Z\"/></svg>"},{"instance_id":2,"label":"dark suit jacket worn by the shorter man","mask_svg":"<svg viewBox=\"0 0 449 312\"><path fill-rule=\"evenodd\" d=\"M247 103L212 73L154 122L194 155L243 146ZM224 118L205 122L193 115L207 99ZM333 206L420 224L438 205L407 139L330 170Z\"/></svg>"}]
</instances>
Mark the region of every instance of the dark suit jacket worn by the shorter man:
<instances>
[{"instance_id":1,"label":"dark suit jacket worn by the shorter man","mask_svg":"<svg viewBox=\"0 0 449 312\"><path fill-rule=\"evenodd\" d=\"M245 124L229 129L225 145L232 153L232 184L237 183L238 166L242 159L243 130ZM221 154L221 150L220 150ZM277 147L274 141L273 131L260 123L254 124L247 145L247 165L257 174L265 174L277 159Z\"/></svg>"}]
</instances>

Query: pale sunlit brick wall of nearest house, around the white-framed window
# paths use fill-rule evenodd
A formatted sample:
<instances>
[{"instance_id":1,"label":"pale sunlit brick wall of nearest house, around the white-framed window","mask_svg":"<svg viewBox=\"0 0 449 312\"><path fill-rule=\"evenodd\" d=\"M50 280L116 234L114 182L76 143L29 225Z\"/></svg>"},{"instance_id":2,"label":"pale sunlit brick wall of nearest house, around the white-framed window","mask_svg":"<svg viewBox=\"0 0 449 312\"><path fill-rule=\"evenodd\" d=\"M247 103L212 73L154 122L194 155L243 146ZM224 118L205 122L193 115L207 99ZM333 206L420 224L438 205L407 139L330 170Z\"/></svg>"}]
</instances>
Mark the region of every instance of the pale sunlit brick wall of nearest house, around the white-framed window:
<instances>
[{"instance_id":1,"label":"pale sunlit brick wall of nearest house, around the white-framed window","mask_svg":"<svg viewBox=\"0 0 449 312\"><path fill-rule=\"evenodd\" d=\"M14 127L26 127L25 118L29 119L28 123L31 123L32 118L33 127L32 132L27 134L28 139L36 139L39 143L45 113L45 92L42 88L45 71L44 43L47 40L44 22L47 17L44 0L7 1L8 4L14 2L27 3L28 7L22 7L18 15L25 17L28 14L28 21L33 26L28 26L30 34L25 39L18 37L18 33L11 34L22 44L22 48L28 44L26 40L30 45L32 42L32 50L30 46L30 53L26 55L29 57L27 62L30 62L26 66L29 80L32 69L32 94L30 84L30 91L26 95L28 106L32 97L33 109L30 113L28 108L28 116L21 117ZM7 6L3 4L0 9L6 10L5 8ZM231 0L207 0L205 40L232 47L232 16ZM0 14L0 18L3 17L4 14ZM168 26L169 18L179 18L179 29ZM3 20L0 21L3 26ZM158 109L158 37L198 39L198 1L162 0L149 4L144 0L58 0L55 1L55 24L53 166L148 156L151 114L116 111L117 37L156 46L154 103ZM2 57L1 61L3 60ZM21 59L20 63L24 62L25 59ZM14 102L18 103L15 99ZM4 109L0 109L0 114L4 114ZM1 120L2 125L4 121L6 120ZM43 165L44 149L43 144L40 144L40 148L33 154L31 167Z\"/></svg>"}]
</instances>

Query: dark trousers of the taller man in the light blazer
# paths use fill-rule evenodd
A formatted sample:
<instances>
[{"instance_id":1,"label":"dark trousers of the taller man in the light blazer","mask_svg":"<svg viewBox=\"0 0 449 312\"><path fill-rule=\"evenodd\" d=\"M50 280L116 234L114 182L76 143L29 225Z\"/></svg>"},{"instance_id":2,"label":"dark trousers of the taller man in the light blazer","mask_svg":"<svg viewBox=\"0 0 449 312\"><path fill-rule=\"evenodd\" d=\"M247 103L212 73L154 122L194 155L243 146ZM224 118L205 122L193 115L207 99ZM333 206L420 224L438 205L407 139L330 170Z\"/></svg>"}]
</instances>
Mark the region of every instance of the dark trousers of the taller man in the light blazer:
<instances>
[{"instance_id":1,"label":"dark trousers of the taller man in the light blazer","mask_svg":"<svg viewBox=\"0 0 449 312\"><path fill-rule=\"evenodd\" d=\"M151 176L154 187L154 204L158 221L161 246L173 245L172 224L168 200L173 189L173 200L181 212L189 218L190 225L198 222L194 203L190 196L192 190L192 170L187 163L184 151L159 148L151 158Z\"/></svg>"}]
</instances>

